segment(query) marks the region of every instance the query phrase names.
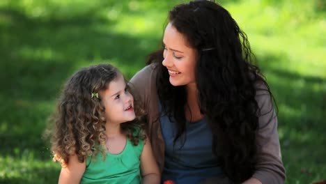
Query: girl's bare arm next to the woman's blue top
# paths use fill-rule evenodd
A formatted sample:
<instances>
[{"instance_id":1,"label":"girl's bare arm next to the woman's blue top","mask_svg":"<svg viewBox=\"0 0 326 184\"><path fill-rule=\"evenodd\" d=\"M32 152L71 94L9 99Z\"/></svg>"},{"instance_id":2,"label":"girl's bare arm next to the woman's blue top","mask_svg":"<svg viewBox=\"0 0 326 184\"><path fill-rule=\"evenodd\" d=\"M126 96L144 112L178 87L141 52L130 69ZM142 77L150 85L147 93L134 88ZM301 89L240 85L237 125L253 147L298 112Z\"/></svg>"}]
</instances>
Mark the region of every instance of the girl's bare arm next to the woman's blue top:
<instances>
[{"instance_id":1,"label":"girl's bare arm next to the woman's blue top","mask_svg":"<svg viewBox=\"0 0 326 184\"><path fill-rule=\"evenodd\" d=\"M152 146L150 146L149 139L144 141L143 151L141 152L141 176L143 180L141 183L160 183L160 171L153 156Z\"/></svg>"}]
</instances>

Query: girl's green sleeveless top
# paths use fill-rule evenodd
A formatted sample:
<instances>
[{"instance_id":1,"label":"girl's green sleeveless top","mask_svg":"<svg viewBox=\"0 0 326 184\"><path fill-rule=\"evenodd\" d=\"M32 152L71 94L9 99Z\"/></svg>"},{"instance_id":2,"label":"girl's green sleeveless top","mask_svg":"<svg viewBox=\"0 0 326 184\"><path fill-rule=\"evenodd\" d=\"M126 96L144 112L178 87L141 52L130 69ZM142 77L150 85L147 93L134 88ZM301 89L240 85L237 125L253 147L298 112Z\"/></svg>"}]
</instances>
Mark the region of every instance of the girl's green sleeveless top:
<instances>
[{"instance_id":1,"label":"girl's green sleeveless top","mask_svg":"<svg viewBox=\"0 0 326 184\"><path fill-rule=\"evenodd\" d=\"M127 139L125 148L119 154L98 153L95 159L86 158L86 170L80 183L141 183L140 155L143 141L139 139L137 146Z\"/></svg>"}]
</instances>

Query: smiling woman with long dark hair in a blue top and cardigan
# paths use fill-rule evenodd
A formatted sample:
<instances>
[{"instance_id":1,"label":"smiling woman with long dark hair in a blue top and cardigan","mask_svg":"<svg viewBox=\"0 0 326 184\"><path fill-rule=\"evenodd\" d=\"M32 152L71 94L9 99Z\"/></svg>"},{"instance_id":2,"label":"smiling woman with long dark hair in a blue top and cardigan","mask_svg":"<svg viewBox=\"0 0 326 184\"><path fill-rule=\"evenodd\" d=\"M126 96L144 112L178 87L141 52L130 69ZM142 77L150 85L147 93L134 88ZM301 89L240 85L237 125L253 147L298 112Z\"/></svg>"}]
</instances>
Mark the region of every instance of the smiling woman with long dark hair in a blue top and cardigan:
<instances>
[{"instance_id":1,"label":"smiling woman with long dark hair in a blue top and cardigan","mask_svg":"<svg viewBox=\"0 0 326 184\"><path fill-rule=\"evenodd\" d=\"M284 183L272 94L228 11L175 6L163 46L131 80L162 181Z\"/></svg>"}]
</instances>

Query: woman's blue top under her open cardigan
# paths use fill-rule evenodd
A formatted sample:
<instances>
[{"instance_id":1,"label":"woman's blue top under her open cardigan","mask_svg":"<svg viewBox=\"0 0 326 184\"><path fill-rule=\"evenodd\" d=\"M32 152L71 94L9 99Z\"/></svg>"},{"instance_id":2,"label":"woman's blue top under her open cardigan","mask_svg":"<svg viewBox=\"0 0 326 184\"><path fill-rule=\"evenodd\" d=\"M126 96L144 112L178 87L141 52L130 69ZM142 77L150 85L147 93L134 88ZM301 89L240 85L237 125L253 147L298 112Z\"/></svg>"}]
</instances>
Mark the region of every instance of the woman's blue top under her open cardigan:
<instances>
[{"instance_id":1,"label":"woman's blue top under her open cardigan","mask_svg":"<svg viewBox=\"0 0 326 184\"><path fill-rule=\"evenodd\" d=\"M160 105L160 112L162 107ZM162 135L165 142L164 169L162 182L199 183L205 178L222 175L219 162L212 153L212 131L206 118L201 121L187 122L185 135L181 135L173 148L176 137L176 124L169 117L160 117Z\"/></svg>"}]
</instances>

